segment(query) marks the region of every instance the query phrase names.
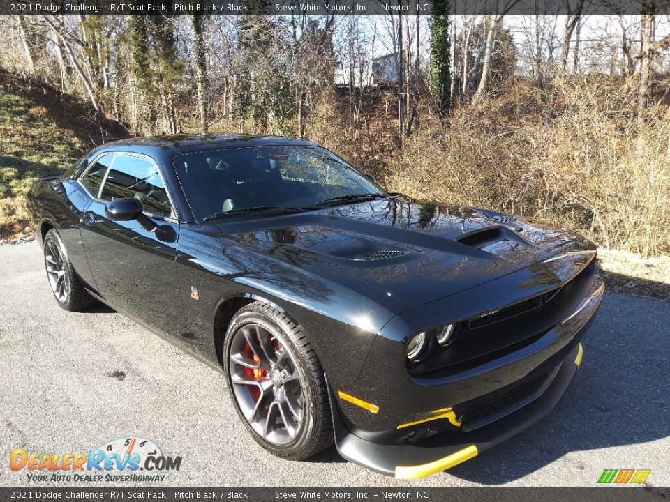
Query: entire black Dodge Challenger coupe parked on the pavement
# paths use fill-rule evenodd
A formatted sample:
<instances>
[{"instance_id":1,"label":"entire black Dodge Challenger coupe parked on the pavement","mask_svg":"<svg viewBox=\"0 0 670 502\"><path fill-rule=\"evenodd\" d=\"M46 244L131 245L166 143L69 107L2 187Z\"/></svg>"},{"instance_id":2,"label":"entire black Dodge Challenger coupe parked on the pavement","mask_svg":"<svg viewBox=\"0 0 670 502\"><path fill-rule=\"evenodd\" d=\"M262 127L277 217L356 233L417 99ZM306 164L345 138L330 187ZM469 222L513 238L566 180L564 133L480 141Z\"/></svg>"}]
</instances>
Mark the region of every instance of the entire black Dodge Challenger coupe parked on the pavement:
<instances>
[{"instance_id":1,"label":"entire black Dodge Challenger coupe parked on the pavement","mask_svg":"<svg viewBox=\"0 0 670 502\"><path fill-rule=\"evenodd\" d=\"M399 478L545 416L600 305L595 246L389 193L283 137L105 144L29 191L66 310L102 301L224 372L261 446Z\"/></svg>"}]
</instances>

